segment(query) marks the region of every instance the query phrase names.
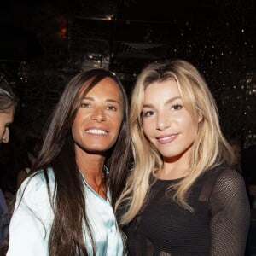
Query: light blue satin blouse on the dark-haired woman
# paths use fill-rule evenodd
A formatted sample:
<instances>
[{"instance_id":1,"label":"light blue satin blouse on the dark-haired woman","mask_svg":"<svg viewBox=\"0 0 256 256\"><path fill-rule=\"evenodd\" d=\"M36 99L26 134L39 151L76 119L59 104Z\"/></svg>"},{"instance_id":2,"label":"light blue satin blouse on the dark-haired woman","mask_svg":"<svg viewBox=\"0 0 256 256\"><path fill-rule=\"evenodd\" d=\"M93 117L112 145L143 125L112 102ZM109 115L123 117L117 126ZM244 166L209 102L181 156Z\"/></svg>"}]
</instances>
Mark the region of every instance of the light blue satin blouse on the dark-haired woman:
<instances>
[{"instance_id":1,"label":"light blue satin blouse on the dark-haired woman","mask_svg":"<svg viewBox=\"0 0 256 256\"><path fill-rule=\"evenodd\" d=\"M49 187L53 191L55 175L51 168ZM47 186L43 172L22 183L17 192L15 212L10 221L9 251L7 256L46 256L49 255L48 240L54 214L50 207ZM26 186L27 183L27 186ZM26 186L22 201L22 195ZM111 203L104 200L84 181L86 212L93 230L96 243L96 255L123 255L123 242ZM108 190L108 198L110 198ZM20 205L19 205L20 202ZM91 244L84 230L84 240L89 255Z\"/></svg>"}]
</instances>

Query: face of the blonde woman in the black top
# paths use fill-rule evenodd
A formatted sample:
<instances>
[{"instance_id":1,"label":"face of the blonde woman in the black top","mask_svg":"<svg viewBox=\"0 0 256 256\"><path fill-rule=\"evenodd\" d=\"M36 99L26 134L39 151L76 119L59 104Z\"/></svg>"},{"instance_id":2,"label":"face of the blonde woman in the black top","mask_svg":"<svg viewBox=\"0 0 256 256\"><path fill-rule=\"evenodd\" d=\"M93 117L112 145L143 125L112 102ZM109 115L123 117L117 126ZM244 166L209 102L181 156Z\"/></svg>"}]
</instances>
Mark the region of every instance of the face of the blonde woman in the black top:
<instances>
[{"instance_id":1,"label":"face of the blonde woman in the black top","mask_svg":"<svg viewBox=\"0 0 256 256\"><path fill-rule=\"evenodd\" d=\"M149 84L143 105L143 131L165 161L189 159L198 123L183 107L174 79Z\"/></svg>"}]
</instances>

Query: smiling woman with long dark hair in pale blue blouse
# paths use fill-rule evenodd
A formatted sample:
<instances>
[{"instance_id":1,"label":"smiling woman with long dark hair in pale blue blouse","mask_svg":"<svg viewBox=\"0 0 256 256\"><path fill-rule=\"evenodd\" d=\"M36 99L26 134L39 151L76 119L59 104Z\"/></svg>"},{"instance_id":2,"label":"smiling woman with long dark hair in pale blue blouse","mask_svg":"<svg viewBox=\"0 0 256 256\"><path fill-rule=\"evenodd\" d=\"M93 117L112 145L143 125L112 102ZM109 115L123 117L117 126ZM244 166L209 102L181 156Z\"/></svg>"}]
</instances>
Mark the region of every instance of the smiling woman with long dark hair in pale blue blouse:
<instances>
[{"instance_id":1,"label":"smiling woman with long dark hair in pale blue blouse","mask_svg":"<svg viewBox=\"0 0 256 256\"><path fill-rule=\"evenodd\" d=\"M128 102L104 69L77 74L17 192L8 256L123 255L112 204L130 156Z\"/></svg>"}]
</instances>

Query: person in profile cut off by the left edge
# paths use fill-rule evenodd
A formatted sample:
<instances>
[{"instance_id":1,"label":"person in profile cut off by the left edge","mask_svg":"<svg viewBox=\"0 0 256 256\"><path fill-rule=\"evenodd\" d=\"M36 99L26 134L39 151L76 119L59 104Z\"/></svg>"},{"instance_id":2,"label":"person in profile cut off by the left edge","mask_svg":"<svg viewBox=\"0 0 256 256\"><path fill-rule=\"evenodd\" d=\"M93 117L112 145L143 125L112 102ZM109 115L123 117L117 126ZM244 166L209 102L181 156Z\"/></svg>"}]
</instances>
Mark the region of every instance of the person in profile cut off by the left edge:
<instances>
[{"instance_id":1,"label":"person in profile cut off by the left edge","mask_svg":"<svg viewBox=\"0 0 256 256\"><path fill-rule=\"evenodd\" d=\"M8 82L0 79L0 143L9 143L9 125L14 121L17 98ZM8 208L0 188L0 246L9 234Z\"/></svg>"}]
</instances>

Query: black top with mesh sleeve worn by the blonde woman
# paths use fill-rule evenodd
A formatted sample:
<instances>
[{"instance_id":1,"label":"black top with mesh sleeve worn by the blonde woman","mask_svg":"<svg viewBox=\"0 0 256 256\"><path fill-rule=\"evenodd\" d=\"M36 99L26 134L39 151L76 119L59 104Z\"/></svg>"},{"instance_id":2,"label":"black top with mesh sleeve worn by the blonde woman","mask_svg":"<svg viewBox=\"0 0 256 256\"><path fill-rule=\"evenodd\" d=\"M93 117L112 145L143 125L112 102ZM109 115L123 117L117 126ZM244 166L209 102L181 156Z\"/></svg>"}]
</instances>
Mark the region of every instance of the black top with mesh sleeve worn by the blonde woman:
<instances>
[{"instance_id":1,"label":"black top with mesh sleeve worn by the blonde woman","mask_svg":"<svg viewBox=\"0 0 256 256\"><path fill-rule=\"evenodd\" d=\"M124 227L129 255L244 255L250 209L244 180L226 166L206 172L190 190L193 213L172 201L157 180L142 209Z\"/></svg>"}]
</instances>

